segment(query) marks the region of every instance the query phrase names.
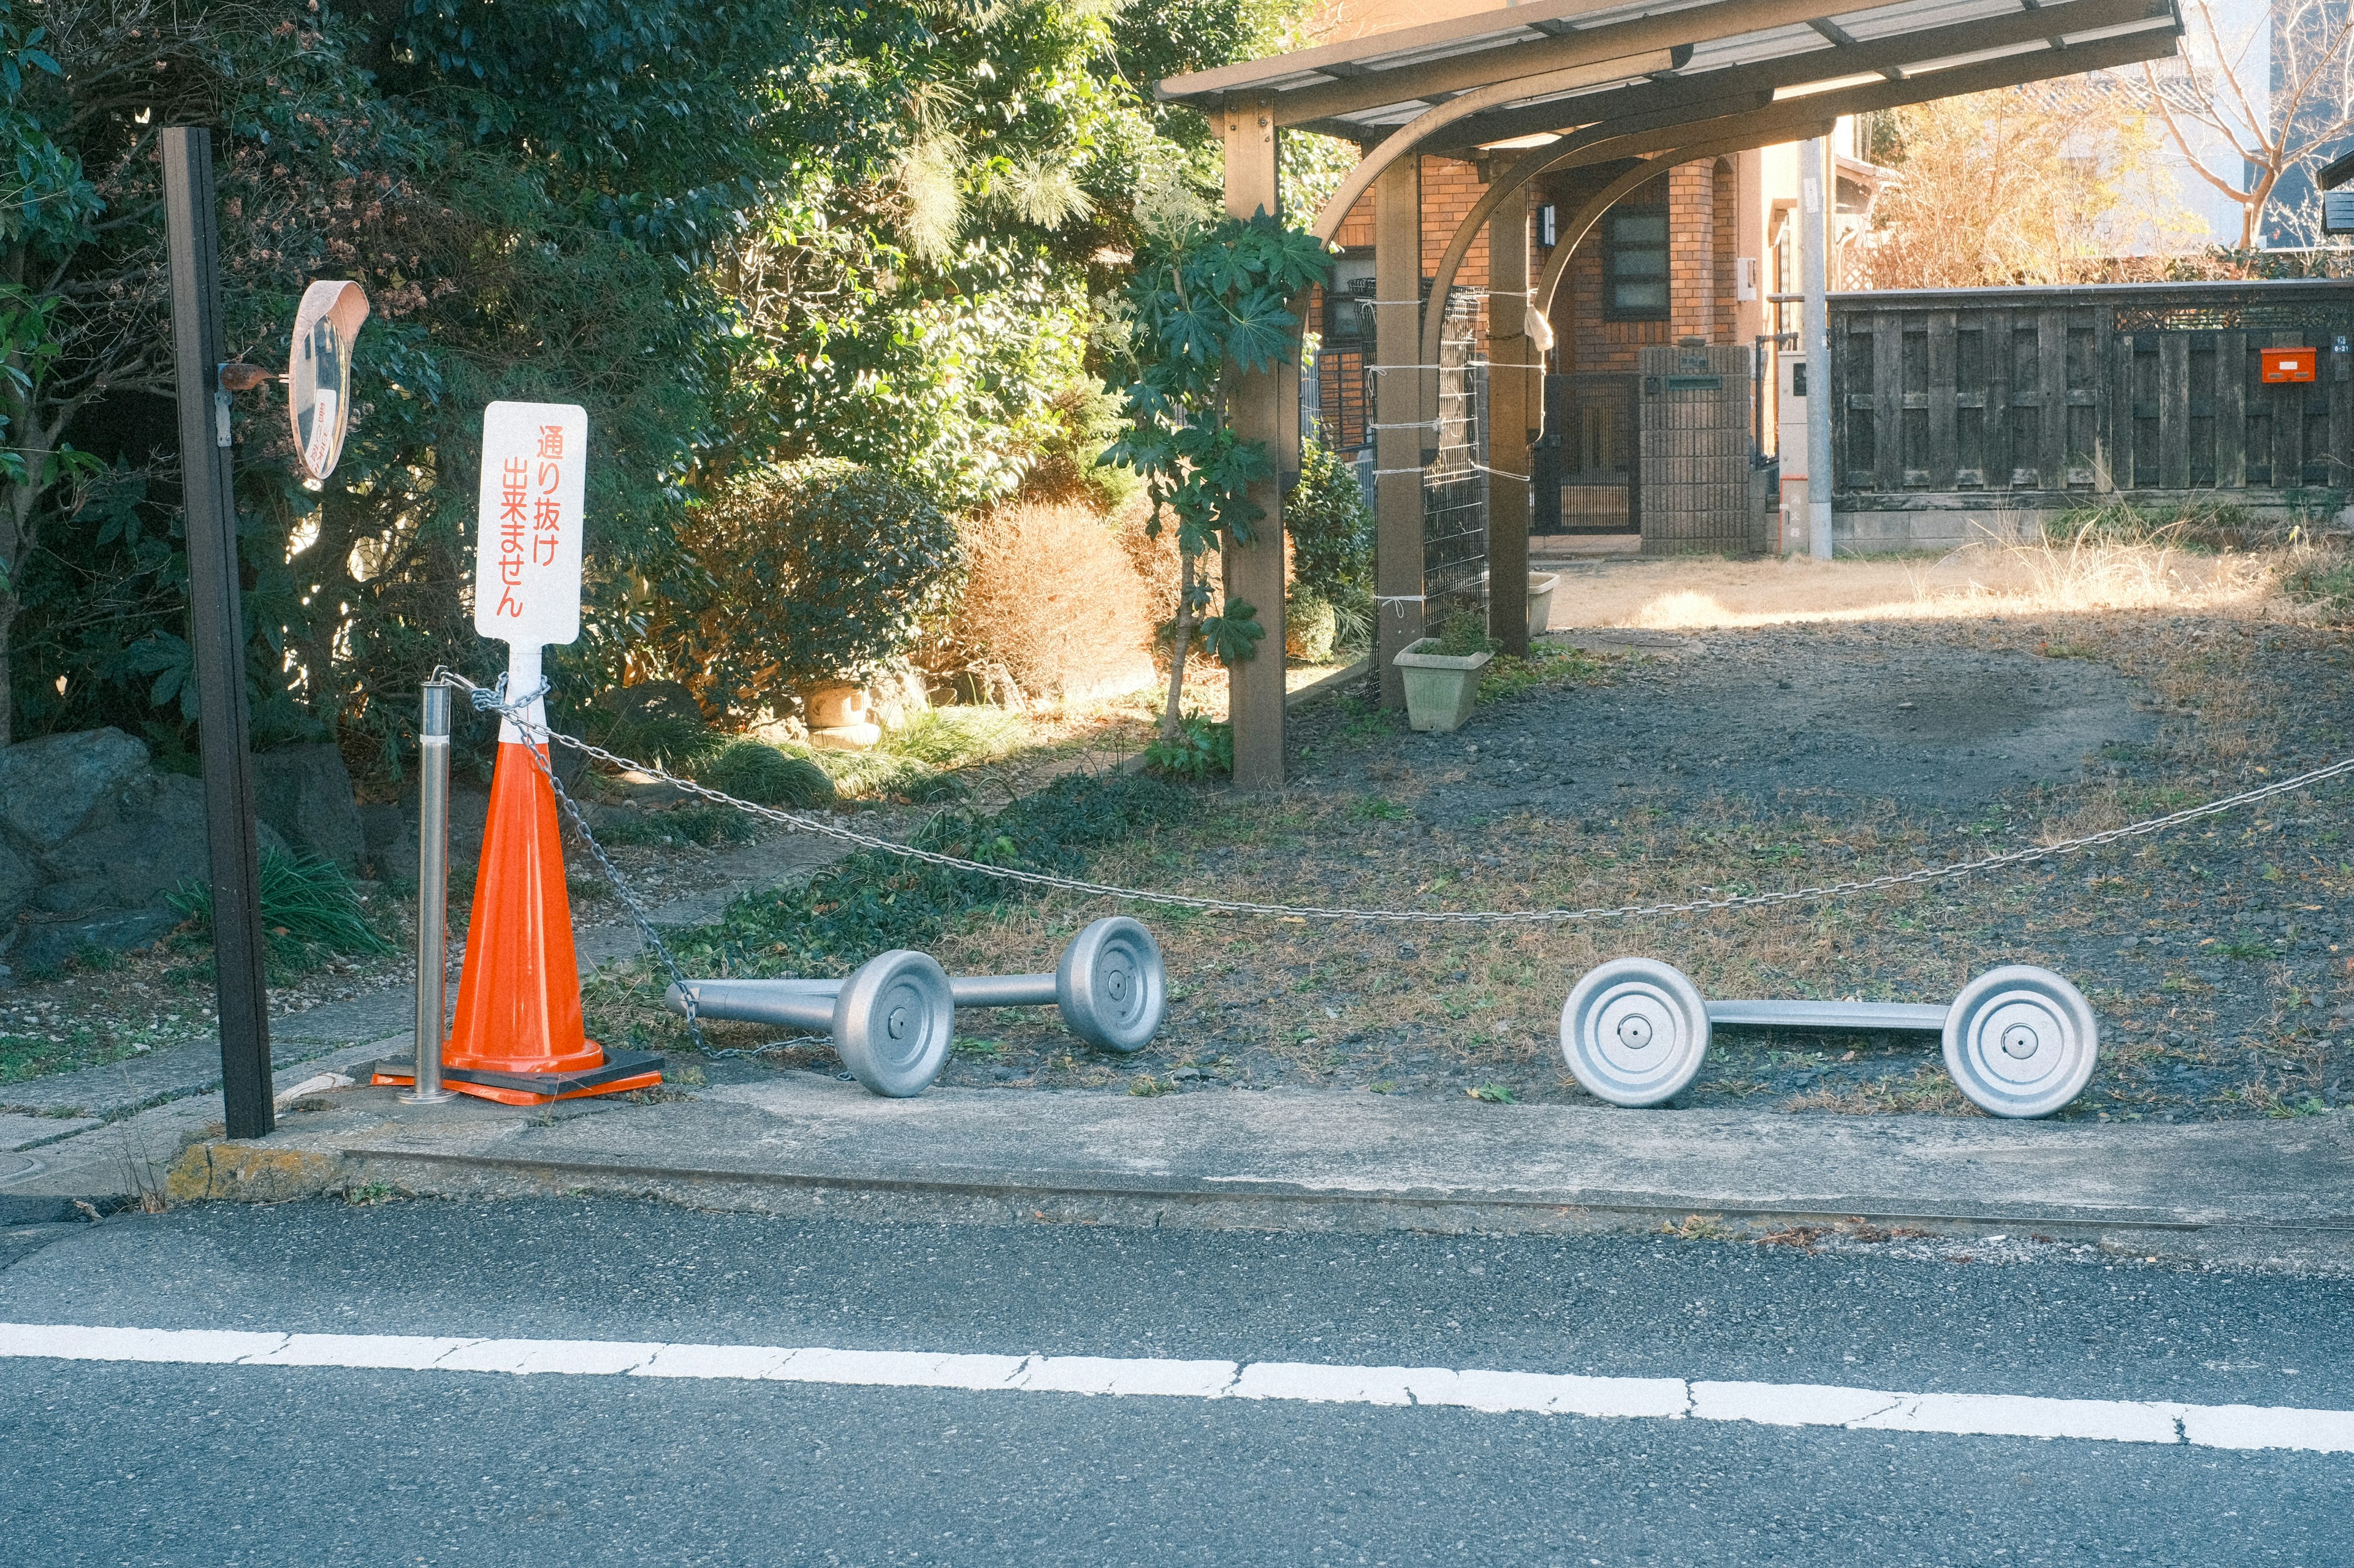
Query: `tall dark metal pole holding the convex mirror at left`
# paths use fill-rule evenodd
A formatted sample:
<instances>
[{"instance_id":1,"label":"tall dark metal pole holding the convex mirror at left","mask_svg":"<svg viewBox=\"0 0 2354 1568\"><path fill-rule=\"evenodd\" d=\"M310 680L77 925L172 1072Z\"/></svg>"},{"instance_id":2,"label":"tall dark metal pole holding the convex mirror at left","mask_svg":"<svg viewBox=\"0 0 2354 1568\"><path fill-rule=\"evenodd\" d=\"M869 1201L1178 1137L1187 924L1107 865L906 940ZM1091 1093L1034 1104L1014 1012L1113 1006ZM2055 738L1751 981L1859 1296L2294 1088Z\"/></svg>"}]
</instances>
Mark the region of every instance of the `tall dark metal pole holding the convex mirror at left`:
<instances>
[{"instance_id":1,"label":"tall dark metal pole holding the convex mirror at left","mask_svg":"<svg viewBox=\"0 0 2354 1568\"><path fill-rule=\"evenodd\" d=\"M245 619L238 612L238 504L228 393L221 391L221 283L212 132L162 134L172 252L172 356L179 372L181 492L188 509L188 645L195 652L205 836L212 862L212 970L221 1015L228 1135L261 1137L271 1114L271 1015L261 979L261 845L245 723Z\"/></svg>"}]
</instances>

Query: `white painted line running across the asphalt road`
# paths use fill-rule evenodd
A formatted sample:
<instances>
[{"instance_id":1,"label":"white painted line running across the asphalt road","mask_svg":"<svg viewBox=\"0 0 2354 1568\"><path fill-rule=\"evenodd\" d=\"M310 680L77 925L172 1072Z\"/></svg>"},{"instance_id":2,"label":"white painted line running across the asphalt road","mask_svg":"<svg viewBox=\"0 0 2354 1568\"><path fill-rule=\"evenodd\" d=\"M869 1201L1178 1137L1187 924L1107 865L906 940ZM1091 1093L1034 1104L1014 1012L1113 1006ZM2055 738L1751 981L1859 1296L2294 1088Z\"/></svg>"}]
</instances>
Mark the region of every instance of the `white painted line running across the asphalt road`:
<instances>
[{"instance_id":1,"label":"white painted line running across the asphalt road","mask_svg":"<svg viewBox=\"0 0 2354 1568\"><path fill-rule=\"evenodd\" d=\"M567 1373L574 1377L701 1377L1146 1398L1276 1398L1325 1406L1452 1406L1483 1413L2354 1453L2354 1410L2032 1398L2020 1394L1902 1394L1810 1382L1568 1377L1443 1366L1330 1366L1314 1361L1243 1366L1123 1356L963 1356L784 1344L292 1335L80 1323L0 1323L0 1358L315 1366L506 1373L516 1377Z\"/></svg>"}]
</instances>

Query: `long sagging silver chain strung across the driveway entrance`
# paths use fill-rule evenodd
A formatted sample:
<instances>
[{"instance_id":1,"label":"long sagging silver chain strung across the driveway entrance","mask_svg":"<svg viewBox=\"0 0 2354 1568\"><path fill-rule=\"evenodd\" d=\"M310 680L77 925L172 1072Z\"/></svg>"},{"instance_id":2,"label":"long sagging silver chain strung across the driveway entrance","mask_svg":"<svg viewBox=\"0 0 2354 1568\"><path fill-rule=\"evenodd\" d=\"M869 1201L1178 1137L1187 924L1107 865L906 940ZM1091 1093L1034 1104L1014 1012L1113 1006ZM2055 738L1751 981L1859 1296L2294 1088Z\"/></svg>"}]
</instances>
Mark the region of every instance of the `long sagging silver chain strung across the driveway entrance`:
<instances>
[{"instance_id":1,"label":"long sagging silver chain strung across the driveway entrance","mask_svg":"<svg viewBox=\"0 0 2354 1568\"><path fill-rule=\"evenodd\" d=\"M450 680L466 687L468 692L483 692L464 676L450 671L438 671L438 680ZM2027 845L2024 850L2006 850L2001 855L1984 855L1980 859L1956 859L1942 866L1921 866L1919 871L1895 871L1888 876L1869 876L1848 883L1817 883L1813 888L1787 888L1782 892L1742 892L1718 899L1688 899L1681 904L1591 904L1587 909L1330 909L1321 904L1259 904L1252 899L1210 899L1191 892L1151 892L1144 888L1113 888L1111 883L1090 883L1076 876L1055 876L1050 871L1022 871L1017 866L986 866L977 859L963 859L958 855L942 855L939 850L918 850L911 843L895 843L890 838L876 838L873 833L859 833L857 829L845 829L833 822L822 822L817 817L803 817L798 812L779 810L774 805L756 805L751 800L737 800L730 793L697 784L694 779L680 779L650 763L636 763L626 756L614 756L603 746L593 746L579 737L551 730L544 723L523 718L520 706L485 704L476 697L476 706L487 706L506 713L525 735L537 735L539 739L570 746L588 758L610 763L614 768L626 768L631 772L643 772L650 777L683 789L690 796L701 796L713 805L730 805L751 817L774 822L779 826L793 829L798 833L819 833L824 838L836 838L840 843L855 843L862 850L880 850L885 855L897 855L902 859L913 859L927 866L944 866L949 871L972 871L977 876L993 876L1008 883L1022 883L1026 888L1055 888L1059 892L1085 892L1102 899L1130 899L1137 904L1161 904L1163 909L1203 909L1210 913L1238 913L1238 916L1274 916L1274 918L1302 918L1302 921L1358 921L1358 923L1389 923L1389 925L1568 925L1572 921L1641 921L1648 916L1671 916L1671 913L1716 913L1723 909L1770 909L1775 904L1806 904L1815 899L1836 899L1855 892L1881 892L1886 888L1911 888L1921 883L1942 883L1961 876L1977 876L1980 871L2003 871L2008 866L2024 866L2039 859L2060 859L2064 855L2081 855L2086 850L2097 850L2102 845L2123 843L2128 838L2147 838L2149 833L2166 833L2170 829L2199 822L2201 817L2215 817L2222 812L2239 810L2243 805L2255 805L2274 796L2286 796L2298 789L2309 789L2326 779L2338 779L2354 772L2354 758L2328 763L2326 768L2314 768L2276 784L2262 784L2257 789L2243 789L2236 796L2222 796L2220 800L2208 800L2203 805L2187 805L2180 812L2168 812L2163 817L2147 817L2128 826L2107 829L2102 833L2086 833L2083 838L2064 838L2060 843Z\"/></svg>"}]
</instances>

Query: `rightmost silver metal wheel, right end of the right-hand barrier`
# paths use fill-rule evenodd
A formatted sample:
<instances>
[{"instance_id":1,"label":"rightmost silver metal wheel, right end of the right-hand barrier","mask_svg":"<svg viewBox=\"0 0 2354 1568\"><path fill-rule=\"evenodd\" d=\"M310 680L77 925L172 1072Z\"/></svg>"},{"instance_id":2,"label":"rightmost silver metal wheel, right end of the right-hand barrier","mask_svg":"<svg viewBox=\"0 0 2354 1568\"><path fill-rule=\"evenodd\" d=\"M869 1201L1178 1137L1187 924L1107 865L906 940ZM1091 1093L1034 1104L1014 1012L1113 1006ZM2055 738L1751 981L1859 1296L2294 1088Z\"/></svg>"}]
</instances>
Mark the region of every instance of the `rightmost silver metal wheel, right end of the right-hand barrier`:
<instances>
[{"instance_id":1,"label":"rightmost silver metal wheel, right end of the right-hand barrier","mask_svg":"<svg viewBox=\"0 0 2354 1568\"><path fill-rule=\"evenodd\" d=\"M1987 970L1944 1015L1944 1071L1989 1116L2050 1116L2097 1062L2093 1003L2032 963Z\"/></svg>"}]
</instances>

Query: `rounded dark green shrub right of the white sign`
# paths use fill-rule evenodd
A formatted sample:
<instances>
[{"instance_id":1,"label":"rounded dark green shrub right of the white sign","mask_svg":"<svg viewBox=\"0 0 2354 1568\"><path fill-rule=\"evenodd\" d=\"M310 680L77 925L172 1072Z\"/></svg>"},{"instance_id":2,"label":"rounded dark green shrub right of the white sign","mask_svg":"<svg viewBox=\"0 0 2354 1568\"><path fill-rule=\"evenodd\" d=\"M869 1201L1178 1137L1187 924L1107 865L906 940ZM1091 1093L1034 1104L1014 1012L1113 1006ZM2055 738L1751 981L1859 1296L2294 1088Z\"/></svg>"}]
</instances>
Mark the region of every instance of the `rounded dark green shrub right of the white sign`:
<instances>
[{"instance_id":1,"label":"rounded dark green shrub right of the white sign","mask_svg":"<svg viewBox=\"0 0 2354 1568\"><path fill-rule=\"evenodd\" d=\"M812 459L737 476L678 530L706 589L647 640L711 709L786 711L812 680L909 652L963 565L956 525L873 469Z\"/></svg>"}]
</instances>

